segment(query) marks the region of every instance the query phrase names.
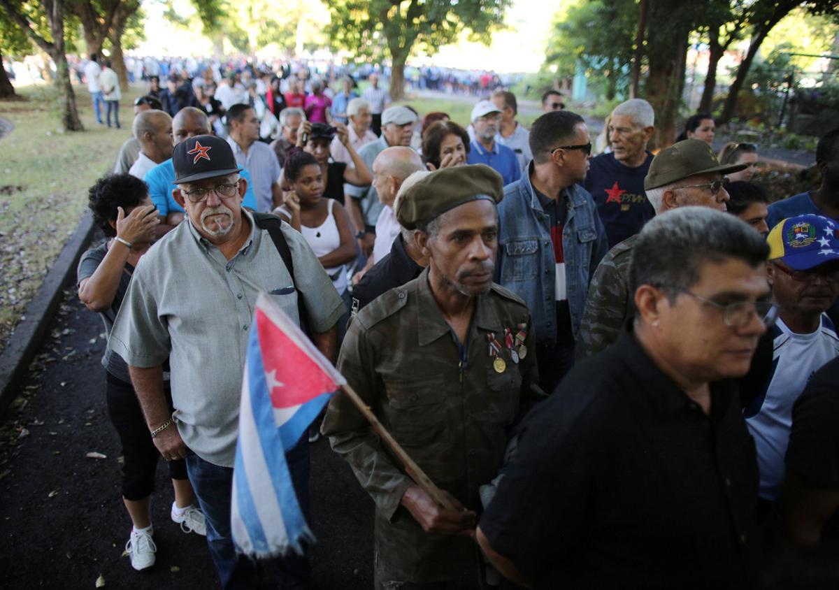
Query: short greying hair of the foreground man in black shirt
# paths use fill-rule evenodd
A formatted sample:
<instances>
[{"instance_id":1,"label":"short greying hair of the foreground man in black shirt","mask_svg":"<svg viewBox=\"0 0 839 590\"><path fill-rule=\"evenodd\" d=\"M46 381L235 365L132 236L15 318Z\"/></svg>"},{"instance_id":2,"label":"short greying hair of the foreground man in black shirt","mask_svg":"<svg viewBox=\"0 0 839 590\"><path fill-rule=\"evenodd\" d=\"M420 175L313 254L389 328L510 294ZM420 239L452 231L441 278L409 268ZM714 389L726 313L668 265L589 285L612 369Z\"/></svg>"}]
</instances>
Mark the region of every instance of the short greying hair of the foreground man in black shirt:
<instances>
[{"instance_id":1,"label":"short greying hair of the foreground man in black shirt","mask_svg":"<svg viewBox=\"0 0 839 590\"><path fill-rule=\"evenodd\" d=\"M743 260L755 268L766 262L769 246L748 223L707 207L666 211L638 234L629 265L631 292L653 285L675 295L701 278L706 262Z\"/></svg>"}]
</instances>

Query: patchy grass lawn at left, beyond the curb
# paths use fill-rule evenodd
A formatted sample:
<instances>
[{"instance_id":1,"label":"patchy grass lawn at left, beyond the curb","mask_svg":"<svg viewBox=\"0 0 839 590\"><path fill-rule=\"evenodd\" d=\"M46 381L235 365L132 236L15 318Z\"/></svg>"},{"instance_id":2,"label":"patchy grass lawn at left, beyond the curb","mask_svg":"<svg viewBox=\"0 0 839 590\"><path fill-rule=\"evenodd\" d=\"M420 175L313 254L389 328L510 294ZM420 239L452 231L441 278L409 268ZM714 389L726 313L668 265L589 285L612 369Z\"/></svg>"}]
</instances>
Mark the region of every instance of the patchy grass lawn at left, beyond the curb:
<instances>
[{"instance_id":1,"label":"patchy grass lawn at left, beyond the curb","mask_svg":"<svg viewBox=\"0 0 839 590\"><path fill-rule=\"evenodd\" d=\"M117 130L97 125L90 95L74 90L83 132L60 131L52 86L24 86L18 93L28 102L0 102L0 117L14 124L0 138L0 349L76 231L88 187L112 170L131 134L133 92L122 100Z\"/></svg>"}]
</instances>

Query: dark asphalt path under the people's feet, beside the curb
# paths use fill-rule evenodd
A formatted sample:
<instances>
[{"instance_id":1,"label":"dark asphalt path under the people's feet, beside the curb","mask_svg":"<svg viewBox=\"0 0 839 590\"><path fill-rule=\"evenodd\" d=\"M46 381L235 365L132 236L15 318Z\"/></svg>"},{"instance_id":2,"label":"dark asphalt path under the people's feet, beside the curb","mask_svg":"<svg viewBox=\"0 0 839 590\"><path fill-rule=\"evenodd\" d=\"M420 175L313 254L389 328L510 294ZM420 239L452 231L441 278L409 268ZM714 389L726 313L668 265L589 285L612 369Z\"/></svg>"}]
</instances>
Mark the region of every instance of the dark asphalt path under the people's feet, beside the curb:
<instances>
[{"instance_id":1,"label":"dark asphalt path under the people's feet, beside the curb","mask_svg":"<svg viewBox=\"0 0 839 590\"><path fill-rule=\"evenodd\" d=\"M152 502L157 563L135 572L121 557L131 525L105 405L103 337L102 321L68 285L22 395L0 424L0 588L93 588L100 575L106 588L219 587L205 539L169 519L163 461ZM310 587L373 587L373 502L327 441L311 450L319 544Z\"/></svg>"}]
</instances>

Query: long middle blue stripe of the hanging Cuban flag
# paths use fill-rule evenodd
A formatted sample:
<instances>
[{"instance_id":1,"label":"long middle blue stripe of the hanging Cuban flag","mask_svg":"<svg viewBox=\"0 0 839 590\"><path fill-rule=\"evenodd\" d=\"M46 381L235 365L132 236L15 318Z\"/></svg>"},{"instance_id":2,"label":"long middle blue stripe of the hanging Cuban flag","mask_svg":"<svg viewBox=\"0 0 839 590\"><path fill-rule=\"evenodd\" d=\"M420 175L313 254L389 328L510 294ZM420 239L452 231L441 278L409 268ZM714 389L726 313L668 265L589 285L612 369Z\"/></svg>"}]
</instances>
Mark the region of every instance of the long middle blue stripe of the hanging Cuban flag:
<instances>
[{"instance_id":1,"label":"long middle blue stripe of the hanging Cuban flag","mask_svg":"<svg viewBox=\"0 0 839 590\"><path fill-rule=\"evenodd\" d=\"M255 335L258 331L253 330ZM268 384L265 381L262 352L259 350L259 339L253 337L248 344L248 380L251 392L251 407L253 419L256 422L259 442L263 449L265 462L268 464L268 474L277 494L279 510L283 514L283 522L289 537L289 544L298 553L303 552L300 539L311 535L306 525L294 483L291 480L288 464L285 462L285 450L282 438L279 436L277 421L274 420L274 406L268 395ZM301 444L308 444L303 441ZM268 525L270 523L267 523Z\"/></svg>"}]
</instances>

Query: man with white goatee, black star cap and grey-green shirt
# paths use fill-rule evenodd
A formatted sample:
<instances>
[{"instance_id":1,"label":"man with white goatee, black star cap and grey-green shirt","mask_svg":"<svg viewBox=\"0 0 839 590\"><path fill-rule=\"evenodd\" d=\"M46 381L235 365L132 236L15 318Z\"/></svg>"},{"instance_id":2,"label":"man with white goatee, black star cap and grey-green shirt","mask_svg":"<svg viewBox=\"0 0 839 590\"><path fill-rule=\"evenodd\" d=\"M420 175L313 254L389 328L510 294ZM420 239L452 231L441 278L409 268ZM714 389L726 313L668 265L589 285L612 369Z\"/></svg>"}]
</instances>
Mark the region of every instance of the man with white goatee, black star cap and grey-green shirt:
<instances>
[{"instance_id":1,"label":"man with white goatee, black star cap and grey-green shirt","mask_svg":"<svg viewBox=\"0 0 839 590\"><path fill-rule=\"evenodd\" d=\"M230 530L242 365L257 295L269 293L299 322L302 297L312 342L333 361L336 324L345 306L302 234L242 209L248 181L239 177L242 169L225 140L187 138L175 146L172 162L177 185L172 196L187 221L138 264L108 346L128 363L160 454L167 461L186 458L221 587L257 587L258 568L236 555ZM268 218L281 230L277 243L268 232ZM276 245L283 241L291 255L290 272ZM172 415L163 393L167 358ZM304 510L308 445L304 435L286 453ZM288 587L304 584L309 572L305 557L284 558L278 567Z\"/></svg>"}]
</instances>

